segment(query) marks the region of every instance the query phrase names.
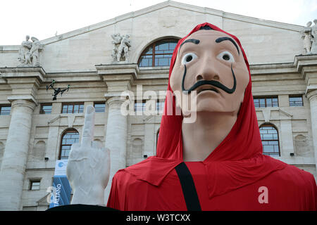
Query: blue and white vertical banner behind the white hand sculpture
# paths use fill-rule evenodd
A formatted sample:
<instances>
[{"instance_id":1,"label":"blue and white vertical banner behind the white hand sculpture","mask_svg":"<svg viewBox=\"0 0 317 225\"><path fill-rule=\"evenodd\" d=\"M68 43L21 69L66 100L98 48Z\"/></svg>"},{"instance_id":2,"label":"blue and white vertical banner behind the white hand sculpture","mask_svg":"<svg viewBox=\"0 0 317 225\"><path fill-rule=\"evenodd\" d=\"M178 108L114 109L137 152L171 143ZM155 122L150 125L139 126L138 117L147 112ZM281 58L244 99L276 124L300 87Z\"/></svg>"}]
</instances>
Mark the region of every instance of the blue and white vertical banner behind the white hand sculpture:
<instances>
[{"instance_id":1,"label":"blue and white vertical banner behind the white hand sculpture","mask_svg":"<svg viewBox=\"0 0 317 225\"><path fill-rule=\"evenodd\" d=\"M49 207L70 205L72 188L66 176L68 160L56 160L53 187L51 188L51 201Z\"/></svg>"}]
</instances>

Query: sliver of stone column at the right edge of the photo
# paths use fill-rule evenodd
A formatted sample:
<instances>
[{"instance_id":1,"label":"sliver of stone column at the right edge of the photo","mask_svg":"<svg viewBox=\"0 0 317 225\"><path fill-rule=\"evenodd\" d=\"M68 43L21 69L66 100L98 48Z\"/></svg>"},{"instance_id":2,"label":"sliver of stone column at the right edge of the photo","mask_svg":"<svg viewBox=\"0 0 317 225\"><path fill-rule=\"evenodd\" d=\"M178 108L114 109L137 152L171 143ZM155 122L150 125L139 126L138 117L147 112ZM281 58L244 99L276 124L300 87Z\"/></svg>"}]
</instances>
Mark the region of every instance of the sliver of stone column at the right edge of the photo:
<instances>
[{"instance_id":1,"label":"sliver of stone column at the right edge of the photo","mask_svg":"<svg viewBox=\"0 0 317 225\"><path fill-rule=\"evenodd\" d=\"M307 93L311 108L311 132L313 136L313 152L315 153L315 163L317 169L317 89Z\"/></svg>"}]
</instances>

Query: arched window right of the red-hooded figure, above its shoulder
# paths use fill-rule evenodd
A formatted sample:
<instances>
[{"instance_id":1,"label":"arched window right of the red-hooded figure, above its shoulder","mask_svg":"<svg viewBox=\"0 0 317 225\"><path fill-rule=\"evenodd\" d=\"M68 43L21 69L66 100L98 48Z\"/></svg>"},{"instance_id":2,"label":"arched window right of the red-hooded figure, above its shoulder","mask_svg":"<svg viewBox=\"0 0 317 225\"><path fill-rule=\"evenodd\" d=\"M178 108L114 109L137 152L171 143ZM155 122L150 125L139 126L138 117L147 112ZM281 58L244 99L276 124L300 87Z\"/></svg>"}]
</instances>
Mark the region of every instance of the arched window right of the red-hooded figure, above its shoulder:
<instances>
[{"instance_id":1,"label":"arched window right of the red-hooded figure, above its shoulder","mask_svg":"<svg viewBox=\"0 0 317 225\"><path fill-rule=\"evenodd\" d=\"M276 129L273 124L263 124L260 126L260 134L263 146L263 155L280 156L278 129Z\"/></svg>"}]
</instances>

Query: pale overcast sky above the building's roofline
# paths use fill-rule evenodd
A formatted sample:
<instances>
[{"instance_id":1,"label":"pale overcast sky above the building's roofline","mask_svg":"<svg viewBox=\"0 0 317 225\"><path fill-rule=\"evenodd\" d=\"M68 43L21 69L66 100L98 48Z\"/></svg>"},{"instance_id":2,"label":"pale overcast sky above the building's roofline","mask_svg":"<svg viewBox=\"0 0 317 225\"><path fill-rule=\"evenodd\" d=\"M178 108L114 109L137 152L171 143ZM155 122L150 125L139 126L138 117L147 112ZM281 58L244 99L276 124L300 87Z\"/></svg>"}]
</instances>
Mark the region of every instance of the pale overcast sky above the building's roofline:
<instances>
[{"instance_id":1,"label":"pale overcast sky above the building's roofline","mask_svg":"<svg viewBox=\"0 0 317 225\"><path fill-rule=\"evenodd\" d=\"M0 45L19 45L26 34L39 40L47 39L56 32L70 32L161 2L163 0L0 0ZM178 2L302 26L317 18L317 0Z\"/></svg>"}]
</instances>

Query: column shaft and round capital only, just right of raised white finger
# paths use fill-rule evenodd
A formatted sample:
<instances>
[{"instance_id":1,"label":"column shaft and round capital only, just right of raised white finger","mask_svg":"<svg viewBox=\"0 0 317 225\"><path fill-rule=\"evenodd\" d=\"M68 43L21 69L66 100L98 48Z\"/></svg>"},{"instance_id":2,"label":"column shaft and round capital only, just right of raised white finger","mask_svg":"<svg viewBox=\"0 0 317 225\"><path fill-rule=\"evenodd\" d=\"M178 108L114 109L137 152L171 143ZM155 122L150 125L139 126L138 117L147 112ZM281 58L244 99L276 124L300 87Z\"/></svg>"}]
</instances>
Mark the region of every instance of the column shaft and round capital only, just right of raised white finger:
<instances>
[{"instance_id":1,"label":"column shaft and round capital only, just right of raised white finger","mask_svg":"<svg viewBox=\"0 0 317 225\"><path fill-rule=\"evenodd\" d=\"M105 191L105 200L111 189L113 175L119 169L126 166L125 155L127 153L127 116L121 113L121 105L124 100L120 96L113 96L107 99L108 120L106 124L106 143L105 147L110 150L111 169L108 185Z\"/></svg>"}]
</instances>

